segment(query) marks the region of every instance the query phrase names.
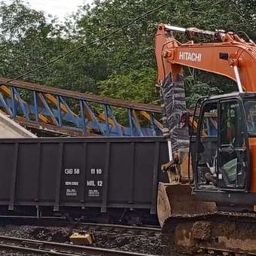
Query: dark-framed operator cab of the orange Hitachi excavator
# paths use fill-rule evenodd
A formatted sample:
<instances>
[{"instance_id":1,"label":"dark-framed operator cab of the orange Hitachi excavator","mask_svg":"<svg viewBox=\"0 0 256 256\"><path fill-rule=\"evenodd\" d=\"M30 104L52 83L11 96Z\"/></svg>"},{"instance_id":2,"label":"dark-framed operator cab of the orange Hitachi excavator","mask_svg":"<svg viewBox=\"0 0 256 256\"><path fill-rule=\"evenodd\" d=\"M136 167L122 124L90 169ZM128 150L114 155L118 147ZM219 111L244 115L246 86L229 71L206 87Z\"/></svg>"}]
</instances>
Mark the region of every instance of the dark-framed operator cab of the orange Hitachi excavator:
<instances>
[{"instance_id":1,"label":"dark-framed operator cab of the orange Hitachi excavator","mask_svg":"<svg viewBox=\"0 0 256 256\"><path fill-rule=\"evenodd\" d=\"M256 203L256 196L242 197L254 192L250 151L255 136L256 94L232 93L203 101L192 155L197 198L225 206Z\"/></svg>"}]
</instances>

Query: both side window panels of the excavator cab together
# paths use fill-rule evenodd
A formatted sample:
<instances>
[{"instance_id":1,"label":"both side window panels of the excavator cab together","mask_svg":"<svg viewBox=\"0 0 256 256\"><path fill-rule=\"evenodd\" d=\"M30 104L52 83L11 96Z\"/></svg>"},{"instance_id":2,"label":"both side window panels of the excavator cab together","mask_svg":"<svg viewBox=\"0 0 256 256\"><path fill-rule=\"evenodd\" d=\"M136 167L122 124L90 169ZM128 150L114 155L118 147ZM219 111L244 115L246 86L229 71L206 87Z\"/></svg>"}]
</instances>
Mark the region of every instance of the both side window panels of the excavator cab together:
<instances>
[{"instance_id":1,"label":"both side window panels of the excavator cab together","mask_svg":"<svg viewBox=\"0 0 256 256\"><path fill-rule=\"evenodd\" d=\"M196 143L197 188L245 190L248 184L245 134L245 111L240 98L209 99L203 103Z\"/></svg>"}]
</instances>

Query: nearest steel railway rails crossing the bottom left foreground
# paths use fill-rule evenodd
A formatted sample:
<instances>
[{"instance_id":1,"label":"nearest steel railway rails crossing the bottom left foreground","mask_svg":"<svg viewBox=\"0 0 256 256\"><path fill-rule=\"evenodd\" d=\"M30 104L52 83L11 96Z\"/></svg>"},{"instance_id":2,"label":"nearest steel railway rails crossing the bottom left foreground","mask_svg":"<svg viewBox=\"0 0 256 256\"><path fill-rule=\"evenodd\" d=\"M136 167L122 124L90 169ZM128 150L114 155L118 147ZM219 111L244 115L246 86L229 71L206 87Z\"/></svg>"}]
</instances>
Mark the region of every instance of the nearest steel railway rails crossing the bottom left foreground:
<instances>
[{"instance_id":1,"label":"nearest steel railway rails crossing the bottom left foreground","mask_svg":"<svg viewBox=\"0 0 256 256\"><path fill-rule=\"evenodd\" d=\"M11 236L0 236L0 248L7 251L18 251L26 253L47 254L47 255L102 255L102 256L155 256L130 251L117 251L105 248L90 246L70 245L59 242L45 242L41 240L22 239Z\"/></svg>"}]
</instances>

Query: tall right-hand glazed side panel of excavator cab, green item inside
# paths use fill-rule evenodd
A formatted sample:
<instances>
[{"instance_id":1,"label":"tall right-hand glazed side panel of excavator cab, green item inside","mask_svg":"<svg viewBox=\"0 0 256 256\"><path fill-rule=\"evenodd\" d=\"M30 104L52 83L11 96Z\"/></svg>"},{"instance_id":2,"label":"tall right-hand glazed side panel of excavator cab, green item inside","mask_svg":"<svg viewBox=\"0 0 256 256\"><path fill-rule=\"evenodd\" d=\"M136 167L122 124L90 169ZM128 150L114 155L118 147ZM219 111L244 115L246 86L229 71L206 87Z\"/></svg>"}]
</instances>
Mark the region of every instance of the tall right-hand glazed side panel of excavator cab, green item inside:
<instances>
[{"instance_id":1,"label":"tall right-hand glazed side panel of excavator cab, green item inside","mask_svg":"<svg viewBox=\"0 0 256 256\"><path fill-rule=\"evenodd\" d=\"M220 102L218 187L244 188L246 184L245 118L242 102Z\"/></svg>"}]
</instances>

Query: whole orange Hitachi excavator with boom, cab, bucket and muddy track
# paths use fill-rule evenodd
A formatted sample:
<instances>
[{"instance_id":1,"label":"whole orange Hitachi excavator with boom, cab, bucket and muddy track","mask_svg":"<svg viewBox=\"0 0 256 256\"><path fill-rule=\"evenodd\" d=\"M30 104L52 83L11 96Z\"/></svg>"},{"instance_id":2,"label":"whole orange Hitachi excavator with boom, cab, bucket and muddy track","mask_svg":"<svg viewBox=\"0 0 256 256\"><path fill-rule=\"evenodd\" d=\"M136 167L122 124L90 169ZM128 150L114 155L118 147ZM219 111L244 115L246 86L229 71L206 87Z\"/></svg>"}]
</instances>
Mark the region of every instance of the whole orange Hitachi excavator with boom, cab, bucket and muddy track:
<instances>
[{"instance_id":1,"label":"whole orange Hitachi excavator with boom, cab, bucket and muddy track","mask_svg":"<svg viewBox=\"0 0 256 256\"><path fill-rule=\"evenodd\" d=\"M256 44L244 32L166 24L155 44L169 146L169 183L157 198L166 254L256 254ZM199 99L191 121L184 66L230 78L238 90Z\"/></svg>"}]
</instances>

